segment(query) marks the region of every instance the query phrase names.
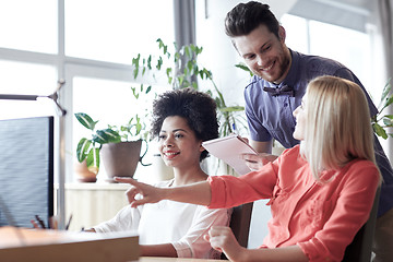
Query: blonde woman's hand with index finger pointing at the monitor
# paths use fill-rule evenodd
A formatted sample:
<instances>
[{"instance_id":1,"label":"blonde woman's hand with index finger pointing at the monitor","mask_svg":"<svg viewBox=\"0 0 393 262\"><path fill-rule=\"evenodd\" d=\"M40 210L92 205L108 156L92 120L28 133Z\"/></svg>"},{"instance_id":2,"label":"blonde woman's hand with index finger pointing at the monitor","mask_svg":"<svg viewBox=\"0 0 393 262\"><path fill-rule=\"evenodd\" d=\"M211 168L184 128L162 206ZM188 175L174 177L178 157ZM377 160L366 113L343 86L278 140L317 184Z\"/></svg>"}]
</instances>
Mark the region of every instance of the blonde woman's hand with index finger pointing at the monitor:
<instances>
[{"instance_id":1,"label":"blonde woman's hand with index finger pointing at the monitor","mask_svg":"<svg viewBox=\"0 0 393 262\"><path fill-rule=\"evenodd\" d=\"M164 190L146 183L138 182L132 178L115 177L115 181L130 183L131 187L126 194L132 207L146 203L157 203L164 199ZM135 199L136 194L141 194L142 199Z\"/></svg>"}]
</instances>

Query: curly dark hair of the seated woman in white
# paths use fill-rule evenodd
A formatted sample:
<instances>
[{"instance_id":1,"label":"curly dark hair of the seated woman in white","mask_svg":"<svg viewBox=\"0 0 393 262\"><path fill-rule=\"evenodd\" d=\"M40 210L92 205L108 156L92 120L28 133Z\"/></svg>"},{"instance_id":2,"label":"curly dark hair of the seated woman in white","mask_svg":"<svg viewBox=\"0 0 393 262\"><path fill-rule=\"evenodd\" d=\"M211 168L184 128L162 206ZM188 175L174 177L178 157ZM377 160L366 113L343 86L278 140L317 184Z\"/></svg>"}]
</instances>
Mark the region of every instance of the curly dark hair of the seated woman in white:
<instances>
[{"instance_id":1,"label":"curly dark hair of the seated woman in white","mask_svg":"<svg viewBox=\"0 0 393 262\"><path fill-rule=\"evenodd\" d=\"M182 117L195 133L198 140L207 141L218 138L216 103L207 94L191 87L168 91L153 102L153 120L151 134L159 134L167 117ZM200 162L206 158L207 151L201 153Z\"/></svg>"}]
</instances>

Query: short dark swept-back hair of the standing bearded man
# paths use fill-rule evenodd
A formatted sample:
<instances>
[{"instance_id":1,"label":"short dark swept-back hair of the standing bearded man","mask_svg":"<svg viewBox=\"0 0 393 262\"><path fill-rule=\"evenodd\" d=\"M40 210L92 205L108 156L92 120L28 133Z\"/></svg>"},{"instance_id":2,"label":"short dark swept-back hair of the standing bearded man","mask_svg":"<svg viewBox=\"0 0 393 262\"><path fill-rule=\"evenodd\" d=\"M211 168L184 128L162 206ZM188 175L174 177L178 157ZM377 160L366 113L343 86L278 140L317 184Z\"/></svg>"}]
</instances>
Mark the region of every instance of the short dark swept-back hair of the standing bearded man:
<instances>
[{"instance_id":1,"label":"short dark swept-back hair of the standing bearded man","mask_svg":"<svg viewBox=\"0 0 393 262\"><path fill-rule=\"evenodd\" d=\"M225 17L225 33L229 37L245 36L261 24L266 25L269 31L279 38L279 22L267 4L257 1L239 3Z\"/></svg>"}]
</instances>

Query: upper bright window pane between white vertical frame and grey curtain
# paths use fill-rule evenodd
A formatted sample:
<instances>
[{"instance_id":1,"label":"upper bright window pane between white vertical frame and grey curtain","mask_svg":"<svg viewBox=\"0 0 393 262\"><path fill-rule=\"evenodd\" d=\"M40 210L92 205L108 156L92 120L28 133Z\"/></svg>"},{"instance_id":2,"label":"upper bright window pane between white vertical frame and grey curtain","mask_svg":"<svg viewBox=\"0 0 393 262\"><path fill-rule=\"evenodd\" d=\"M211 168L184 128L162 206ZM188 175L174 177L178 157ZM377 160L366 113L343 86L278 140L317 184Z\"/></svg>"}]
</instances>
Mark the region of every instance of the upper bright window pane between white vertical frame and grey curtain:
<instances>
[{"instance_id":1,"label":"upper bright window pane between white vertical frame and grey curtain","mask_svg":"<svg viewBox=\"0 0 393 262\"><path fill-rule=\"evenodd\" d=\"M66 1L66 55L131 63L174 41L172 0Z\"/></svg>"}]
</instances>

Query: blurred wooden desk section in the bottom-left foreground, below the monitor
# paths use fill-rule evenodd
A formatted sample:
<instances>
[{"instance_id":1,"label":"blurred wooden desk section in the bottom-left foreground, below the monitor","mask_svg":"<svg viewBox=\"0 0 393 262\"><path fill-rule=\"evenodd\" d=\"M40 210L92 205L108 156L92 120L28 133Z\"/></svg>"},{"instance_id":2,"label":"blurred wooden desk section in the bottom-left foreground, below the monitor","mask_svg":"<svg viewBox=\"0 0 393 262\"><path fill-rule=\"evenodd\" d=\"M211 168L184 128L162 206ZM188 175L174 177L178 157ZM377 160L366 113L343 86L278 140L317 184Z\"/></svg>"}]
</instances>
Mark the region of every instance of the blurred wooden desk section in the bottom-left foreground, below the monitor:
<instances>
[{"instance_id":1,"label":"blurred wooden desk section in the bottom-left foreground, below the monitor","mask_svg":"<svg viewBox=\"0 0 393 262\"><path fill-rule=\"evenodd\" d=\"M0 258L7 262L138 261L134 233L69 233L15 227L0 228Z\"/></svg>"}]
</instances>

